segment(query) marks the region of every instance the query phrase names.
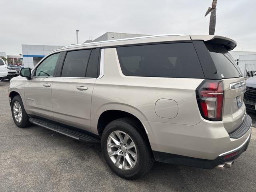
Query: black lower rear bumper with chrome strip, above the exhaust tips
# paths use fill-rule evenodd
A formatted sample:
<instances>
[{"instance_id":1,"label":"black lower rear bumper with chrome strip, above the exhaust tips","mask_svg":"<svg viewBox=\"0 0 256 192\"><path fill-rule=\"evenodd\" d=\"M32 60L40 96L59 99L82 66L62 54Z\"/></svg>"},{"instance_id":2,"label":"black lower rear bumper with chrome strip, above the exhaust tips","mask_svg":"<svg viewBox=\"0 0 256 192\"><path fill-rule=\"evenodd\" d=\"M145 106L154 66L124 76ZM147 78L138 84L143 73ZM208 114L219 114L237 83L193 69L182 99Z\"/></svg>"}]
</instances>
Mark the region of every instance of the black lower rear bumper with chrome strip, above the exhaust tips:
<instances>
[{"instance_id":1,"label":"black lower rear bumper with chrome strip, above the exhaust tips","mask_svg":"<svg viewBox=\"0 0 256 192\"><path fill-rule=\"evenodd\" d=\"M248 145L250 143L250 137L251 137L251 134L246 139L246 142L244 142L244 144L242 144L242 146L238 147L236 150L225 153L225 154L220 154L214 160L192 158L192 157L181 156L181 155L170 154L170 153L159 152L159 151L153 151L153 154L154 154L155 160L159 162L179 164L179 165L198 167L198 168L204 168L204 169L212 169L218 166L219 164L227 162L228 160L235 160L236 158L238 158L248 148Z\"/></svg>"}]
</instances>

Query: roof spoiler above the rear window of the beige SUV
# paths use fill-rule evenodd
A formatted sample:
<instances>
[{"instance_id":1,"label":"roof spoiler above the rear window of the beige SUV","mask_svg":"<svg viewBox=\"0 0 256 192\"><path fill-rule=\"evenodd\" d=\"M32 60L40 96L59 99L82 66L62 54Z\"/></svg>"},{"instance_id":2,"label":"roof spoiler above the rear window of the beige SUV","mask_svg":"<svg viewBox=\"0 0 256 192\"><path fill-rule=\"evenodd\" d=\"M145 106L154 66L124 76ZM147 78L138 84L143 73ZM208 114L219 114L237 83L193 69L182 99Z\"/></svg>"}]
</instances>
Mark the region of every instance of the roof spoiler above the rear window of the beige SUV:
<instances>
[{"instance_id":1,"label":"roof spoiler above the rear window of the beige SUV","mask_svg":"<svg viewBox=\"0 0 256 192\"><path fill-rule=\"evenodd\" d=\"M222 37L222 36L214 36L211 40L208 40L205 42L212 43L212 44L218 44L218 45L224 47L228 51L233 50L237 45L237 43L234 40L232 40L230 38Z\"/></svg>"}]
</instances>

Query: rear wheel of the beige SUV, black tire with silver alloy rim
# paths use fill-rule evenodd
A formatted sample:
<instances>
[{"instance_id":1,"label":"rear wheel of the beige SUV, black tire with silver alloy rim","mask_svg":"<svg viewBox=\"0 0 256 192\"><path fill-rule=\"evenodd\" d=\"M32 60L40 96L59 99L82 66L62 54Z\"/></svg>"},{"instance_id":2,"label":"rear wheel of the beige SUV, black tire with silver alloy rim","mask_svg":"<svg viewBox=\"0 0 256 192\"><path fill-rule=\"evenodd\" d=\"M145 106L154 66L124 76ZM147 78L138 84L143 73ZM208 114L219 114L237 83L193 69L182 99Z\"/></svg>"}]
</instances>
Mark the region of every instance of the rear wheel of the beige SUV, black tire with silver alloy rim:
<instances>
[{"instance_id":1,"label":"rear wheel of the beige SUV, black tire with silver alloy rim","mask_svg":"<svg viewBox=\"0 0 256 192\"><path fill-rule=\"evenodd\" d=\"M110 122L102 133L101 147L108 166L115 174L128 180L143 176L154 164L154 157L148 138L142 132L140 126L141 125L133 118L120 118ZM121 146L120 144L116 145L114 140L110 137L110 135L112 137L115 136L115 141L120 142L120 137L117 136L118 134L121 134L123 139ZM125 142L125 138L128 137L128 141ZM125 143L127 145L125 145ZM135 147L132 148L132 146ZM113 152L115 155L110 157L109 154L113 154ZM121 157L118 158L119 156ZM127 158L131 162L130 164L128 160L126 160ZM120 163L118 163L118 159L120 159Z\"/></svg>"}]
</instances>

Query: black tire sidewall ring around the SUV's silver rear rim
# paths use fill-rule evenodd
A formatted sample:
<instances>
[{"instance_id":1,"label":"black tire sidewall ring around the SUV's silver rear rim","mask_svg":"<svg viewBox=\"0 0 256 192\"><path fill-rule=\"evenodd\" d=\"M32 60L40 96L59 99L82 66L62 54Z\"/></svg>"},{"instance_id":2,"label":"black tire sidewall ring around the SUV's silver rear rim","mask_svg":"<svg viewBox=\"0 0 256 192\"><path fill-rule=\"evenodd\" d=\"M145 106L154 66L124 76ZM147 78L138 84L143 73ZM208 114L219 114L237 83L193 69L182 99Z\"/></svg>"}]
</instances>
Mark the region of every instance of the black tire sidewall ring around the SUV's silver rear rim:
<instances>
[{"instance_id":1,"label":"black tire sidewall ring around the SUV's silver rear rim","mask_svg":"<svg viewBox=\"0 0 256 192\"><path fill-rule=\"evenodd\" d=\"M116 167L110 157L108 156L108 151L107 151L107 141L108 141L108 136L114 132L114 131L122 131L125 132L132 138L136 150L137 150L137 162L134 168L131 170L121 170L120 168ZM145 161L144 158L144 150L145 148L145 143L143 137L140 135L140 133L130 124L127 124L122 121L114 121L110 122L106 128L104 129L104 132L102 134L102 152L105 156L106 162L108 166L116 173L118 176L125 177L125 178L130 178L132 179L133 176L135 175L142 175L144 173L143 170L143 162Z\"/></svg>"}]
</instances>

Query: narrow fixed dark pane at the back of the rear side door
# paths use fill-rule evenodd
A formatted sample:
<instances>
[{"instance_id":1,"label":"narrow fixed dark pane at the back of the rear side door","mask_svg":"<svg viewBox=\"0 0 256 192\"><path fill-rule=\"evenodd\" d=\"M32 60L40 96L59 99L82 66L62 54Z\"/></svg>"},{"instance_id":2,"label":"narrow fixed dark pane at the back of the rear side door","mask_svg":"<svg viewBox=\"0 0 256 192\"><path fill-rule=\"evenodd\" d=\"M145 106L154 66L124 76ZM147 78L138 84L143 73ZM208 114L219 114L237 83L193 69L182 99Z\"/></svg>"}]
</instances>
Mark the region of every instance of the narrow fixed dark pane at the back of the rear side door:
<instances>
[{"instance_id":1,"label":"narrow fixed dark pane at the back of the rear side door","mask_svg":"<svg viewBox=\"0 0 256 192\"><path fill-rule=\"evenodd\" d=\"M98 77L98 57L99 56L96 55L96 49L92 49L86 71L86 77Z\"/></svg>"}]
</instances>

